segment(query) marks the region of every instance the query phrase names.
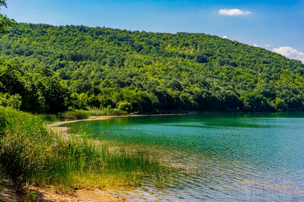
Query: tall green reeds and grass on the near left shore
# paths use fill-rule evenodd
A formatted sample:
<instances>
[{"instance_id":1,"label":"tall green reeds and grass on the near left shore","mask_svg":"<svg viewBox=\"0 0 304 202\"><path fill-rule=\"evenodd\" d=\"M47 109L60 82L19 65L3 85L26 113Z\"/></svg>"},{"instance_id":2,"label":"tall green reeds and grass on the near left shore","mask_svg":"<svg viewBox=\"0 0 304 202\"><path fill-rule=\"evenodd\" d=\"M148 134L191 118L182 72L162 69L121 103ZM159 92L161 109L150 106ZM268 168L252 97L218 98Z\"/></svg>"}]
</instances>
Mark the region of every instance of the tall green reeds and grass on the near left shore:
<instances>
[{"instance_id":1,"label":"tall green reeds and grass on the near left shore","mask_svg":"<svg viewBox=\"0 0 304 202\"><path fill-rule=\"evenodd\" d=\"M75 186L138 184L145 177L161 181L164 168L146 152L126 151L92 140L53 132L42 116L0 107L7 121L0 140L0 163L16 181Z\"/></svg>"}]
</instances>

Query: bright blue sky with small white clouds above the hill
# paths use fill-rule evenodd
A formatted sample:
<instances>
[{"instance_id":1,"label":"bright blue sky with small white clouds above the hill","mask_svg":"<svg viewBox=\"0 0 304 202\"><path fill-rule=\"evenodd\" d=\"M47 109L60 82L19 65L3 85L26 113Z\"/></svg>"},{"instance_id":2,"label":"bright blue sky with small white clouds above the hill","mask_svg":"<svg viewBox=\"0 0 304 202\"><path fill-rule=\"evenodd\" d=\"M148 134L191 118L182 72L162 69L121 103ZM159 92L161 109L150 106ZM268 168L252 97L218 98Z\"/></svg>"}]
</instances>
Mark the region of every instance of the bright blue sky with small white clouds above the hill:
<instances>
[{"instance_id":1,"label":"bright blue sky with small white clouds above the hill","mask_svg":"<svg viewBox=\"0 0 304 202\"><path fill-rule=\"evenodd\" d=\"M198 32L304 62L304 0L6 0L17 22Z\"/></svg>"}]
</instances>

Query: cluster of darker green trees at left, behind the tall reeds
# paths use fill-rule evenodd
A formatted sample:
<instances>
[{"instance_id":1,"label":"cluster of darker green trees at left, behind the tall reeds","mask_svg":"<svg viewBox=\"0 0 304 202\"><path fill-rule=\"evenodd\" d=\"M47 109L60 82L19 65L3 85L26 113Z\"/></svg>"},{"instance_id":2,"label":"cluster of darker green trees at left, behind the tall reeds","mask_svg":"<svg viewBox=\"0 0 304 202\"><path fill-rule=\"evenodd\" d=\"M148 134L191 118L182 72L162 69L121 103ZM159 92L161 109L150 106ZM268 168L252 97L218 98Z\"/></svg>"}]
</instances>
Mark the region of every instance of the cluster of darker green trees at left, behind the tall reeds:
<instances>
[{"instance_id":1,"label":"cluster of darker green trees at left, behind the tall reeds","mask_svg":"<svg viewBox=\"0 0 304 202\"><path fill-rule=\"evenodd\" d=\"M16 60L0 61L0 105L38 113L58 113L67 109L68 90L53 71L27 72ZM46 71L46 70L45 70ZM2 87L2 88L1 88Z\"/></svg>"}]
</instances>

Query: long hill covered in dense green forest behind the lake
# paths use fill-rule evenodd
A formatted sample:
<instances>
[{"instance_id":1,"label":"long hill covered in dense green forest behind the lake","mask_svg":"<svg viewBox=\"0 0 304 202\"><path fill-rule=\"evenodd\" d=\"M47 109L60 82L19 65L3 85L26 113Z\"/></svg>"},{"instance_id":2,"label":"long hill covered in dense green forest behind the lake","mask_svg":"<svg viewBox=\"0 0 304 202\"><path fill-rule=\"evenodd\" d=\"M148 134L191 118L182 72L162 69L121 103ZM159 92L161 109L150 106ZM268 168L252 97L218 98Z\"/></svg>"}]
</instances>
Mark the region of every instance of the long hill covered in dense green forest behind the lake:
<instances>
[{"instance_id":1,"label":"long hill covered in dense green forest behind the lake","mask_svg":"<svg viewBox=\"0 0 304 202\"><path fill-rule=\"evenodd\" d=\"M201 33L17 23L0 55L0 105L25 111L304 110L302 62Z\"/></svg>"}]
</instances>

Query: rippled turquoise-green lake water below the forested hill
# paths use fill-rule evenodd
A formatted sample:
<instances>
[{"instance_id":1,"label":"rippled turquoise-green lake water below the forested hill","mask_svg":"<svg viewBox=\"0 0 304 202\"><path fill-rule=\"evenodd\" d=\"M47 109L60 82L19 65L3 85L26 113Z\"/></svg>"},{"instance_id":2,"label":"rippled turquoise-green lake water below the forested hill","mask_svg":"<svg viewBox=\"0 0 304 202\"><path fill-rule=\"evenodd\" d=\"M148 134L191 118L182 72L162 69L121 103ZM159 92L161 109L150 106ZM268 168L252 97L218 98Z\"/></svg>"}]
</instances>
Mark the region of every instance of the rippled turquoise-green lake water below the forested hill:
<instances>
[{"instance_id":1,"label":"rippled turquoise-green lake water below the forested hill","mask_svg":"<svg viewBox=\"0 0 304 202\"><path fill-rule=\"evenodd\" d=\"M177 186L113 189L128 201L303 202L304 113L115 117L68 124L144 149L177 172Z\"/></svg>"}]
</instances>

